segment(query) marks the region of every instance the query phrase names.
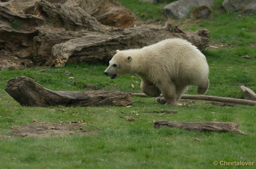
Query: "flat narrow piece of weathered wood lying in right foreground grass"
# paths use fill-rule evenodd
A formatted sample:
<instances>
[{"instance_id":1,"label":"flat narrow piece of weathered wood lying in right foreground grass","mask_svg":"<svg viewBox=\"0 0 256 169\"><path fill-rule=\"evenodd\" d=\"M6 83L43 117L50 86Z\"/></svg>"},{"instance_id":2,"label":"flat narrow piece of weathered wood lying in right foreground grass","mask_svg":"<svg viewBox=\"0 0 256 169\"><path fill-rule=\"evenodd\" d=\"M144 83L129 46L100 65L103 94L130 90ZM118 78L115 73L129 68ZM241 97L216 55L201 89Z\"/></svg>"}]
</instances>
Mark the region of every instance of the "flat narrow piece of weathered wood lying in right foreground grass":
<instances>
[{"instance_id":1,"label":"flat narrow piece of weathered wood lying in right foreground grass","mask_svg":"<svg viewBox=\"0 0 256 169\"><path fill-rule=\"evenodd\" d=\"M173 122L167 120L157 120L154 121L154 128L159 127L178 127L187 130L197 130L197 131L215 131L215 132L235 132L238 134L247 135L246 132L240 131L238 129L238 124L227 123L227 122Z\"/></svg>"}]
</instances>

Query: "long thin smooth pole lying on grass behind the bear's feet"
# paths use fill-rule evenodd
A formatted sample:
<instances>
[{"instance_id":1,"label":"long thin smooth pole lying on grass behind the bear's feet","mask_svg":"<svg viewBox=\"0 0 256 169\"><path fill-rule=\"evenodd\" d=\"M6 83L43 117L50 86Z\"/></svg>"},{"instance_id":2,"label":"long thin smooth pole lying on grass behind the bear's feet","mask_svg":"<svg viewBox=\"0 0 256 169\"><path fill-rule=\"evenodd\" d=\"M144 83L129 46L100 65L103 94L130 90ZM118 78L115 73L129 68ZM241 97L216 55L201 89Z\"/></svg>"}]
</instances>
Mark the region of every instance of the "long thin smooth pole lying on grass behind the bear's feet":
<instances>
[{"instance_id":1,"label":"long thin smooth pole lying on grass behind the bear's feet","mask_svg":"<svg viewBox=\"0 0 256 169\"><path fill-rule=\"evenodd\" d=\"M133 96L139 97L150 97L143 93L132 93ZM162 97L162 95L160 95ZM191 100L207 100L207 101L215 101L215 102L226 102L226 103L234 103L234 104L244 104L254 106L256 105L256 101L252 100L244 100L244 99L234 99L228 97L217 97L217 96L206 96L206 95L182 95L181 99L191 99ZM159 99L160 103L166 103L164 99Z\"/></svg>"}]
</instances>

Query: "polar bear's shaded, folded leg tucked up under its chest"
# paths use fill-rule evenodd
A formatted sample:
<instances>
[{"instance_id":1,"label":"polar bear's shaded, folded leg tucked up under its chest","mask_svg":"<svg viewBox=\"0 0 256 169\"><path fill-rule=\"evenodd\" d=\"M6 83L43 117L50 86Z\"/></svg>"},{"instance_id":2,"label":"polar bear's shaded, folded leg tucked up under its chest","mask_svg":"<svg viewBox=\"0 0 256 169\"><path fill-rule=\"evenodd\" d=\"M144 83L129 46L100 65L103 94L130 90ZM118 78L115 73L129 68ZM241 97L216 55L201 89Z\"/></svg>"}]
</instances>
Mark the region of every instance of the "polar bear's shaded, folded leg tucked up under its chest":
<instances>
[{"instance_id":1,"label":"polar bear's shaded, folded leg tucked up under its chest","mask_svg":"<svg viewBox=\"0 0 256 169\"><path fill-rule=\"evenodd\" d=\"M161 91L149 81L142 80L140 83L141 90L148 96L158 97L161 94Z\"/></svg>"}]
</instances>

